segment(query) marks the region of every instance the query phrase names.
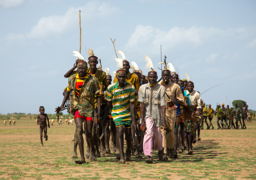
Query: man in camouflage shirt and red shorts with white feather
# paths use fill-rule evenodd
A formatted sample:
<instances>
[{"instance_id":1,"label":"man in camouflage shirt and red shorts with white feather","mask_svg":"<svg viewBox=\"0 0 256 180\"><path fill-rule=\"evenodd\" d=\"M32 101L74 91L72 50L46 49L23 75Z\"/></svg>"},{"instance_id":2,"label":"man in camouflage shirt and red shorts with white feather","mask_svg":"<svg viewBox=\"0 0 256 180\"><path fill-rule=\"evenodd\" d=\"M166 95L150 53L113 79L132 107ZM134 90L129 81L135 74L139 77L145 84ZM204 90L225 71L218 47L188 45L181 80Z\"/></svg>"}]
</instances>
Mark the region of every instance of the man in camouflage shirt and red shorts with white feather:
<instances>
[{"instance_id":1,"label":"man in camouflage shirt and red shorts with white feather","mask_svg":"<svg viewBox=\"0 0 256 180\"><path fill-rule=\"evenodd\" d=\"M73 52L74 53L74 52ZM94 114L94 99L98 105L98 112L100 112L100 90L99 82L96 78L87 73L87 63L80 53L76 52L75 56L80 57L81 61L78 63L77 74L69 77L68 88L63 98L60 107L56 108L56 111L63 109L68 97L70 97L70 113L75 116L76 131L78 145L81 155L81 160L76 160L78 164L85 163L84 156L84 139L83 139L83 122L86 124L85 134L87 147L89 147L89 158L90 160L96 160L95 148L93 139L93 122L94 118L100 118L100 114Z\"/></svg>"}]
</instances>

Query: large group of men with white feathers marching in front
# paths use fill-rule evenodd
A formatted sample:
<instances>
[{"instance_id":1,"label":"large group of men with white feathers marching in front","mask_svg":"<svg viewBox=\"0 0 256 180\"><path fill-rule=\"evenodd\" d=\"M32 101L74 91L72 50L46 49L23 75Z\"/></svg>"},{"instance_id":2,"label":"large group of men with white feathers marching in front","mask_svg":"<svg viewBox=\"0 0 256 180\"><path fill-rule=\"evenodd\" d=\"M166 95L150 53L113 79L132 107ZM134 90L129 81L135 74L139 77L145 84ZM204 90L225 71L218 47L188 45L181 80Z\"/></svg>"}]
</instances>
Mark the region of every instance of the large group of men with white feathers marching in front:
<instances>
[{"instance_id":1,"label":"large group of men with white feathers marching in front","mask_svg":"<svg viewBox=\"0 0 256 180\"><path fill-rule=\"evenodd\" d=\"M111 84L109 69L97 68L98 58L91 49L88 63L77 53L76 65L65 74L69 82L62 104L56 108L60 111L70 99L68 111L74 115L76 123L73 157L77 158L77 145L81 155L76 163L85 163L86 158L96 160L101 154L110 153L110 146L113 152L119 151L116 157L119 163L130 161L132 154L141 158L142 153L148 156L147 163L153 163L153 149L158 149L158 160L176 158L177 152L186 148L188 154L193 153L196 130L200 140L201 119L208 116L211 126L213 113L216 113L211 105L206 108L202 104L193 82L180 80L174 68L167 66L169 63L165 64L162 80L158 82L158 74L148 56L145 56L146 67L150 71L145 76L135 62L130 66L124 54L118 51L122 59L116 58L119 69ZM227 108L226 117L229 112ZM230 113L233 112L236 111ZM244 112L242 110L242 114ZM223 124L223 118L219 120ZM243 127L246 128L245 124ZM87 142L86 155L83 133Z\"/></svg>"}]
</instances>

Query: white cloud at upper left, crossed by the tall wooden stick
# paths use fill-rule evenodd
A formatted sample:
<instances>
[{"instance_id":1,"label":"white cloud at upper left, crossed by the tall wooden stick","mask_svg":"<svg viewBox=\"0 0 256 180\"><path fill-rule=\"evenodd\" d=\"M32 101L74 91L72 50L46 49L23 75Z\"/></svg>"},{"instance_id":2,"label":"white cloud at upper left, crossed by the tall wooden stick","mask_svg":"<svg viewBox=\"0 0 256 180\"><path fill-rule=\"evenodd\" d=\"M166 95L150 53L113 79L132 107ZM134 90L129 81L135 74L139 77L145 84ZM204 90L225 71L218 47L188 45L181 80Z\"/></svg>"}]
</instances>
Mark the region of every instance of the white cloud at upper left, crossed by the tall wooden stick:
<instances>
[{"instance_id":1,"label":"white cloud at upper left, crossed by the tall wooden stick","mask_svg":"<svg viewBox=\"0 0 256 180\"><path fill-rule=\"evenodd\" d=\"M116 15L119 9L107 3L89 2L83 7L70 8L65 15L43 17L27 34L8 34L7 41L48 40L61 36L75 27L79 27L79 10L81 10L82 24L95 24L99 19L106 19Z\"/></svg>"}]
</instances>

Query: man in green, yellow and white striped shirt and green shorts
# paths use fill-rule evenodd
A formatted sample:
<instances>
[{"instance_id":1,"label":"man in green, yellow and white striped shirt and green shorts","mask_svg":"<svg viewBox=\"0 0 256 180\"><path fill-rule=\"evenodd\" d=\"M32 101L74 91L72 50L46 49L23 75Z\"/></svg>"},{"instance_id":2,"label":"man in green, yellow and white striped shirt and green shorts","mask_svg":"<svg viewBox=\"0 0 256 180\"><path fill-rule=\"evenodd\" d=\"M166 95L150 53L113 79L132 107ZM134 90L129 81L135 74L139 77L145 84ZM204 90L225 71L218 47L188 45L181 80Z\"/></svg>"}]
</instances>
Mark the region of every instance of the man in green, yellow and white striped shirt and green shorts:
<instances>
[{"instance_id":1,"label":"man in green, yellow and white striped shirt and green shorts","mask_svg":"<svg viewBox=\"0 0 256 180\"><path fill-rule=\"evenodd\" d=\"M118 163L125 163L131 160L131 126L136 127L135 122L135 87L127 83L126 71L122 68L116 72L117 82L109 85L106 90L105 100L107 100L107 107L104 115L104 122L111 108L111 115L116 126L117 141L119 146L120 161ZM124 157L123 152L123 134L125 133L126 152Z\"/></svg>"}]
</instances>

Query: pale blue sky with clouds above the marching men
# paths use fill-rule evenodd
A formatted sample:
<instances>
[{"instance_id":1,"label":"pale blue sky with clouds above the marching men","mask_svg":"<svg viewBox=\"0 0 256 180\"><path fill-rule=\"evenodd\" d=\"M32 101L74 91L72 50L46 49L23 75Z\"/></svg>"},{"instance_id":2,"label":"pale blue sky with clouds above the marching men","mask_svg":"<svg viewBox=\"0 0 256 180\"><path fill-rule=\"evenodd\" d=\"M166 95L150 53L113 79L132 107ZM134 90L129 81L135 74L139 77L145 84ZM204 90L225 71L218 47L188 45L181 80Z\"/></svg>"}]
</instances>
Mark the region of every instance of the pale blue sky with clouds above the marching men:
<instances>
[{"instance_id":1,"label":"pale blue sky with clouds above the marching men","mask_svg":"<svg viewBox=\"0 0 256 180\"><path fill-rule=\"evenodd\" d=\"M256 78L255 1L60 1L0 0L0 113L53 113L68 84L63 75L79 51L93 49L110 74L116 50L144 74L144 55L187 73L206 104L241 99L256 110L249 89ZM85 48L86 47L86 48ZM160 70L158 77L160 78ZM5 87L5 88L3 88Z\"/></svg>"}]
</instances>

